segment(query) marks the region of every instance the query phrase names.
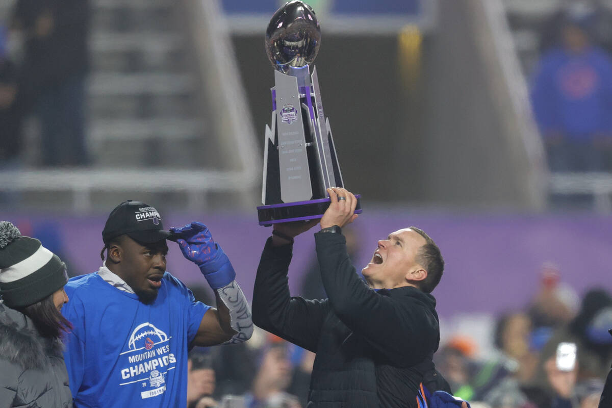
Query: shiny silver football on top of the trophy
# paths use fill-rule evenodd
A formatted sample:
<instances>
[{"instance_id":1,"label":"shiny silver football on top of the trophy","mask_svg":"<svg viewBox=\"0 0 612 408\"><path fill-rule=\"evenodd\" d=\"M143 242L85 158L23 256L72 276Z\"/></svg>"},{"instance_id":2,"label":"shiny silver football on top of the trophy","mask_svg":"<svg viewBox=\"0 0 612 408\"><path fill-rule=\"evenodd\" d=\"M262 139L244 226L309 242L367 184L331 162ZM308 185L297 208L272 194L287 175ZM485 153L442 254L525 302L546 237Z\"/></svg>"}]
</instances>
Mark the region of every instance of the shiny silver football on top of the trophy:
<instances>
[{"instance_id":1,"label":"shiny silver football on top of the trophy","mask_svg":"<svg viewBox=\"0 0 612 408\"><path fill-rule=\"evenodd\" d=\"M287 73L315 61L321 45L321 29L315 11L292 0L278 9L266 30L266 53L274 69Z\"/></svg>"}]
</instances>

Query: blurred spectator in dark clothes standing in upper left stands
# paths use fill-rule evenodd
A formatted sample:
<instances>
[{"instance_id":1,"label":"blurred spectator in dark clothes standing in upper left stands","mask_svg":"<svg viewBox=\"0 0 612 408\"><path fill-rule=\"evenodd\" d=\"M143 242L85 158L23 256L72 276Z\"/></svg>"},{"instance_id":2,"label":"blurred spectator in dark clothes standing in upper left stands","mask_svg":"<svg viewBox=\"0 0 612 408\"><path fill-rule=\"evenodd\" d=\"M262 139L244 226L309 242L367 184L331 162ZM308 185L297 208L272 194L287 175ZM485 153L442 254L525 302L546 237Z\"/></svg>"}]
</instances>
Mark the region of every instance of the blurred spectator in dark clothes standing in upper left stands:
<instances>
[{"instance_id":1,"label":"blurred spectator in dark clothes standing in upper left stands","mask_svg":"<svg viewBox=\"0 0 612 408\"><path fill-rule=\"evenodd\" d=\"M39 119L42 163L88 163L85 86L89 0L17 0L12 29L25 40L20 88Z\"/></svg>"}]
</instances>

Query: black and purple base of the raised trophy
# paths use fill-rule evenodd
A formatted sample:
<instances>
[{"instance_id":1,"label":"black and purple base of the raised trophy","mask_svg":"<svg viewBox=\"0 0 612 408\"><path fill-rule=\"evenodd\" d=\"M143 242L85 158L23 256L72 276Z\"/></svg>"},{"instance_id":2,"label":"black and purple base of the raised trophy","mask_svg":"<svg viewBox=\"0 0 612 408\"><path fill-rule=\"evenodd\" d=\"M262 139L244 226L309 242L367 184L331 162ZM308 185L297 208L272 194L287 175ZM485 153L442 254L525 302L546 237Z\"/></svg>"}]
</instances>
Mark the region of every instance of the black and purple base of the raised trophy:
<instances>
[{"instance_id":1,"label":"black and purple base of the raised trophy","mask_svg":"<svg viewBox=\"0 0 612 408\"><path fill-rule=\"evenodd\" d=\"M356 214L362 212L361 195L356 194ZM289 223L291 221L316 220L323 217L323 213L329 207L329 198L321 198L309 201L283 202L282 204L270 204L269 206L257 207L259 225L266 227L272 224Z\"/></svg>"}]
</instances>

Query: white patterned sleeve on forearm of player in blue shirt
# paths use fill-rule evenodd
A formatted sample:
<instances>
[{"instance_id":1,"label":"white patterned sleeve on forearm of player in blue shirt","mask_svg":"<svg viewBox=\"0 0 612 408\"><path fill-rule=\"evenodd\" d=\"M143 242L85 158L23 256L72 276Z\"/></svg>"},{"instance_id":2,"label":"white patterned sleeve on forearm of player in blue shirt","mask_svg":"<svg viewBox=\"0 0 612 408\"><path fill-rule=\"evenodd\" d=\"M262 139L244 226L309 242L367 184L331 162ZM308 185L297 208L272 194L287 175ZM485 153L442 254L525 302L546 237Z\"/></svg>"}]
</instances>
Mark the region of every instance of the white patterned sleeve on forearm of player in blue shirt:
<instances>
[{"instance_id":1,"label":"white patterned sleeve on forearm of player in blue shirt","mask_svg":"<svg viewBox=\"0 0 612 408\"><path fill-rule=\"evenodd\" d=\"M242 289L236 281L215 289L223 304L230 311L230 326L237 333L223 344L243 343L251 338L253 334L253 321L251 310L248 307L247 298L244 297Z\"/></svg>"}]
</instances>

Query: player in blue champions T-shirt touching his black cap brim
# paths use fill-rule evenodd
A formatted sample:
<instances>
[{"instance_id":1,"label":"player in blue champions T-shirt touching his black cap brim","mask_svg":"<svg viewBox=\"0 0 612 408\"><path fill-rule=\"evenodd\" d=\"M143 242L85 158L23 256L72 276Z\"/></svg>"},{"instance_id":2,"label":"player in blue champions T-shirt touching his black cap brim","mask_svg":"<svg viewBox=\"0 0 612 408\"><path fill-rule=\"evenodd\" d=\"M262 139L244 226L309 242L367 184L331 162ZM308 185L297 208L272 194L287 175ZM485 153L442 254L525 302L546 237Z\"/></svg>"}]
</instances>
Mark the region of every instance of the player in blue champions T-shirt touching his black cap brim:
<instances>
[{"instance_id":1,"label":"player in blue champions T-shirt touching his black cap brim","mask_svg":"<svg viewBox=\"0 0 612 408\"><path fill-rule=\"evenodd\" d=\"M159 212L125 201L102 231L100 270L65 286L62 313L72 323L64 354L75 407L185 407L187 352L241 343L253 324L236 273L208 228L165 231ZM166 239L200 267L217 309L196 302L166 272Z\"/></svg>"}]
</instances>

